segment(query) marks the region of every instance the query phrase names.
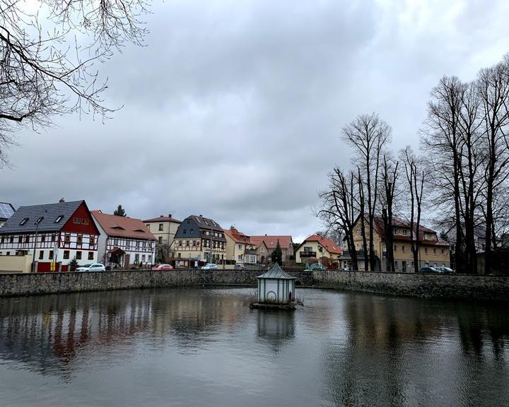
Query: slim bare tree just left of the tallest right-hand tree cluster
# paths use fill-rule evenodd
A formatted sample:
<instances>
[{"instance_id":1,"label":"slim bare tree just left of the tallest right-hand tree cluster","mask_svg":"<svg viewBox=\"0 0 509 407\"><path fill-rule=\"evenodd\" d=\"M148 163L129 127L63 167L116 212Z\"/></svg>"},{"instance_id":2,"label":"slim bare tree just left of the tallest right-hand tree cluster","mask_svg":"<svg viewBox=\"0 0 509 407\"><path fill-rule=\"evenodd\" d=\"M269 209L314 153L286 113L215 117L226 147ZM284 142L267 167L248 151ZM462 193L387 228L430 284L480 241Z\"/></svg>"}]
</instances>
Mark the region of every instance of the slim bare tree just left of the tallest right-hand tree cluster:
<instances>
[{"instance_id":1,"label":"slim bare tree just left of the tallest right-hand tree cluster","mask_svg":"<svg viewBox=\"0 0 509 407\"><path fill-rule=\"evenodd\" d=\"M406 191L410 194L410 247L414 256L414 271L419 272L419 249L421 229L421 209L424 187L424 171L419 168L419 160L410 147L400 152L406 175Z\"/></svg>"}]
</instances>

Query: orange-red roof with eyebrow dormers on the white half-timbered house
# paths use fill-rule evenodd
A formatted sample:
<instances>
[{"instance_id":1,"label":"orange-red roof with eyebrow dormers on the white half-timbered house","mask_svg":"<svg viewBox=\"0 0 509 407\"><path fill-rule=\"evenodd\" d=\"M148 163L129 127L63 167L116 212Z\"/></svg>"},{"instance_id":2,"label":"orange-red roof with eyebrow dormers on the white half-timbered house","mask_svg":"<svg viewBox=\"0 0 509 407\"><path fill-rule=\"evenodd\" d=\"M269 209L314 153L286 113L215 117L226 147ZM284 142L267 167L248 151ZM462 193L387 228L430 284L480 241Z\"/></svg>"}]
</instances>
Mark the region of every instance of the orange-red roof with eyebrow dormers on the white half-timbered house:
<instances>
[{"instance_id":1,"label":"orange-red roof with eyebrow dormers on the white half-timbered house","mask_svg":"<svg viewBox=\"0 0 509 407\"><path fill-rule=\"evenodd\" d=\"M141 219L127 218L127 216L108 215L101 211L91 211L100 227L108 236L129 237L131 239L156 240Z\"/></svg>"}]
</instances>

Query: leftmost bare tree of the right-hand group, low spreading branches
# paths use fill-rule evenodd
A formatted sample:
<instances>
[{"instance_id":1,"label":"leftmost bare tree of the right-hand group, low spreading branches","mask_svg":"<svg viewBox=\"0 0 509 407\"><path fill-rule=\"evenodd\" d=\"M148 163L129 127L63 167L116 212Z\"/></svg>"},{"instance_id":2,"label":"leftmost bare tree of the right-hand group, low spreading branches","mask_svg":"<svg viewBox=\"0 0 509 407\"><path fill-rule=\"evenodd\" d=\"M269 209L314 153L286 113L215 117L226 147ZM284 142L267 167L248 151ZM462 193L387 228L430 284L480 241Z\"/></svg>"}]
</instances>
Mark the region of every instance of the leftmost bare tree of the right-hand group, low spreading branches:
<instances>
[{"instance_id":1,"label":"leftmost bare tree of the right-hand group, low spreading branches","mask_svg":"<svg viewBox=\"0 0 509 407\"><path fill-rule=\"evenodd\" d=\"M353 224L358 216L354 201L355 193L353 172L345 175L339 168L335 168L329 174L328 189L319 194L322 204L316 214L327 226L327 230L339 231L345 236L352 259L352 269L358 270L357 252L353 239Z\"/></svg>"}]
</instances>

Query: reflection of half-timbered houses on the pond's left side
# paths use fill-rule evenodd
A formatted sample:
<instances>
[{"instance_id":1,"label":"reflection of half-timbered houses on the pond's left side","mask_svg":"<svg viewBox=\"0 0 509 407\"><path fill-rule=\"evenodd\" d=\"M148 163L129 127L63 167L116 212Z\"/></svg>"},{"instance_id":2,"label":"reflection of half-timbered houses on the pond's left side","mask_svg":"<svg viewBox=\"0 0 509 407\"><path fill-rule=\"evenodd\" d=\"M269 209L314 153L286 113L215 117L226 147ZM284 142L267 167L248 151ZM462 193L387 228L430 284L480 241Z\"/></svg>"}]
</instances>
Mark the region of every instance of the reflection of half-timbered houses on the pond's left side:
<instances>
[{"instance_id":1,"label":"reflection of half-timbered houses on the pond's left side","mask_svg":"<svg viewBox=\"0 0 509 407\"><path fill-rule=\"evenodd\" d=\"M140 333L199 348L220 326L237 329L248 302L226 291L180 289L7 298L0 300L0 358L65 377L81 348L96 355L109 347L134 348ZM108 353L109 362L119 360L115 352Z\"/></svg>"}]
</instances>

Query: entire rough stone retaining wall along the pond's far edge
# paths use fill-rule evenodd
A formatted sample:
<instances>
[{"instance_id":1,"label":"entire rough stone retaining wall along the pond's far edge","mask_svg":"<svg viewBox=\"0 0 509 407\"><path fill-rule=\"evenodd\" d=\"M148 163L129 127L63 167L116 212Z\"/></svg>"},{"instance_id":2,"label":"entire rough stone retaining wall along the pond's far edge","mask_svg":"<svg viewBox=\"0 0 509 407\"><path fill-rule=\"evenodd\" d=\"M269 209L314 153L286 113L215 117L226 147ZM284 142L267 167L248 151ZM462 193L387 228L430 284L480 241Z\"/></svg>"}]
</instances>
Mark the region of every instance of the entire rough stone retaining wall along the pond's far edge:
<instances>
[{"instance_id":1,"label":"entire rough stone retaining wall along the pond's far edge","mask_svg":"<svg viewBox=\"0 0 509 407\"><path fill-rule=\"evenodd\" d=\"M261 270L103 271L0 274L0 296L73 293L182 285L255 285ZM507 276L447 276L353 271L289 271L297 285L368 293L509 300Z\"/></svg>"}]
</instances>

